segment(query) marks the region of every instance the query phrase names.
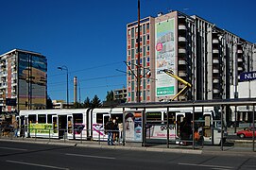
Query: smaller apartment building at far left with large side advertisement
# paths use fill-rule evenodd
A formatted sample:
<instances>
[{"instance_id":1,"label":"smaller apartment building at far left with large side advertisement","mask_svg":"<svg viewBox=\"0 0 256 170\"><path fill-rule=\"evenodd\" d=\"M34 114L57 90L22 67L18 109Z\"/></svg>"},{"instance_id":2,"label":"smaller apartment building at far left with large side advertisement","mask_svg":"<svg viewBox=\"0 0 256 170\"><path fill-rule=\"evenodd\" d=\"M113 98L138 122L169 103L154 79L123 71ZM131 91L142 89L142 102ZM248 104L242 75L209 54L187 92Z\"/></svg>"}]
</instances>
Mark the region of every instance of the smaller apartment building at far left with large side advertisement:
<instances>
[{"instance_id":1,"label":"smaller apartment building at far left with large side advertisement","mask_svg":"<svg viewBox=\"0 0 256 170\"><path fill-rule=\"evenodd\" d=\"M0 56L0 106L3 111L46 109L47 59L14 49Z\"/></svg>"}]
</instances>

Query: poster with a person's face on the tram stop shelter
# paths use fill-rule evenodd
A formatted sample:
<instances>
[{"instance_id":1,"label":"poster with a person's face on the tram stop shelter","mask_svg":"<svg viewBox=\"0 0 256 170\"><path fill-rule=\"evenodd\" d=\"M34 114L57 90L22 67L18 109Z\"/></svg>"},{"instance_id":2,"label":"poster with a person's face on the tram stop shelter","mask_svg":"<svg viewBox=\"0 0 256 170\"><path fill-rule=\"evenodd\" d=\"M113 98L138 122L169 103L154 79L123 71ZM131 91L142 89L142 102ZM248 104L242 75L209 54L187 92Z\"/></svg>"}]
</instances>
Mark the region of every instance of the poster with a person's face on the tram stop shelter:
<instances>
[{"instance_id":1,"label":"poster with a person's face on the tram stop shelter","mask_svg":"<svg viewBox=\"0 0 256 170\"><path fill-rule=\"evenodd\" d=\"M125 115L126 141L142 142L142 112L127 112Z\"/></svg>"}]
</instances>

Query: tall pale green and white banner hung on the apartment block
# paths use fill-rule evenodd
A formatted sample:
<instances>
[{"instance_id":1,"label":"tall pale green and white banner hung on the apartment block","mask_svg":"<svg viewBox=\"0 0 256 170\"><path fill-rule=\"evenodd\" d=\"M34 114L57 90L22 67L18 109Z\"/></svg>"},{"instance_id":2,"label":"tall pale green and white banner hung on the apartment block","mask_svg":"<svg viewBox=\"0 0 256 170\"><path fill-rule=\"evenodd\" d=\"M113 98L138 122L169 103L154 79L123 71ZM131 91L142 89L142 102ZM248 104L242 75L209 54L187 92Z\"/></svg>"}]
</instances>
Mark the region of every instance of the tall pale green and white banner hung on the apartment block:
<instances>
[{"instance_id":1,"label":"tall pale green and white banner hung on the apartment block","mask_svg":"<svg viewBox=\"0 0 256 170\"><path fill-rule=\"evenodd\" d=\"M175 70L175 20L168 19L155 24L156 35L156 96L174 95L175 79L162 72Z\"/></svg>"}]
</instances>

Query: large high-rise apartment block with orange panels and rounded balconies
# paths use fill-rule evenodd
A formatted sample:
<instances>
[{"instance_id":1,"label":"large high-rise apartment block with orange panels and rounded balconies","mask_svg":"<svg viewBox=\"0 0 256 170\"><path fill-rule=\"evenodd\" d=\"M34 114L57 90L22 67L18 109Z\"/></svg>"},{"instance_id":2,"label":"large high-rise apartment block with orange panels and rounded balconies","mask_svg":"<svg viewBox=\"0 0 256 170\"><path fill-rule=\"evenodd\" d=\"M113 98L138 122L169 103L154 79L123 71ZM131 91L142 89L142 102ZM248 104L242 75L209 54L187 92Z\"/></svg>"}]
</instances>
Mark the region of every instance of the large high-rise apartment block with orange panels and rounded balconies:
<instances>
[{"instance_id":1,"label":"large high-rise apartment block with orange panels and rounded balconies","mask_svg":"<svg viewBox=\"0 0 256 170\"><path fill-rule=\"evenodd\" d=\"M141 102L169 101L179 93L185 85L164 69L192 84L179 101L239 97L239 75L256 70L255 44L196 15L172 11L140 23L140 49L137 22L127 25L128 102L137 101L138 76Z\"/></svg>"}]
</instances>

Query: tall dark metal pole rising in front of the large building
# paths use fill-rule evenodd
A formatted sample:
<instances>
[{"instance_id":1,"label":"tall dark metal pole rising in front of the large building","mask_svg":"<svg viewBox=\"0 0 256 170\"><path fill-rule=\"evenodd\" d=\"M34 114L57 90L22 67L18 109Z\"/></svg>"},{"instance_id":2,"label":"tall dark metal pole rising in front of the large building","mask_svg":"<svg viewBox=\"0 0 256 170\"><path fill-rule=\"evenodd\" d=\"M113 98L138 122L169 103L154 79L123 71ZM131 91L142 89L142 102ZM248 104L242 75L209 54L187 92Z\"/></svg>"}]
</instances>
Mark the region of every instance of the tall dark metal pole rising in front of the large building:
<instances>
[{"instance_id":1,"label":"tall dark metal pole rising in front of the large building","mask_svg":"<svg viewBox=\"0 0 256 170\"><path fill-rule=\"evenodd\" d=\"M137 102L141 102L141 2L138 0L138 59L137 59Z\"/></svg>"}]
</instances>

